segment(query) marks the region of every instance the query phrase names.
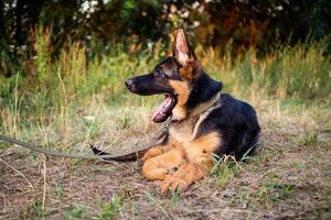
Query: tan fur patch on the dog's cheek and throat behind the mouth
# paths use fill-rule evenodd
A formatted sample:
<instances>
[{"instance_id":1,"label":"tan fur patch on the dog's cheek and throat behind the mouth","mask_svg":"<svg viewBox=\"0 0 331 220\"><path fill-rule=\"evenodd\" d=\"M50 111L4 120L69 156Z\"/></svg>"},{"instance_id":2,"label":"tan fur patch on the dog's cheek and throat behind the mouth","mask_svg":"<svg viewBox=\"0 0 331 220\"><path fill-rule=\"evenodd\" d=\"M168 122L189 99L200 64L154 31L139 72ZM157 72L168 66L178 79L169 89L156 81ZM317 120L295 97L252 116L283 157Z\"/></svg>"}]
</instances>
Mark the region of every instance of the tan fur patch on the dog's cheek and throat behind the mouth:
<instances>
[{"instance_id":1,"label":"tan fur patch on the dog's cheek and throat behind the mouth","mask_svg":"<svg viewBox=\"0 0 331 220\"><path fill-rule=\"evenodd\" d=\"M188 116L185 103L189 99L191 88L186 81L169 80L169 84L178 95L177 105L172 109L172 119L181 121Z\"/></svg>"}]
</instances>

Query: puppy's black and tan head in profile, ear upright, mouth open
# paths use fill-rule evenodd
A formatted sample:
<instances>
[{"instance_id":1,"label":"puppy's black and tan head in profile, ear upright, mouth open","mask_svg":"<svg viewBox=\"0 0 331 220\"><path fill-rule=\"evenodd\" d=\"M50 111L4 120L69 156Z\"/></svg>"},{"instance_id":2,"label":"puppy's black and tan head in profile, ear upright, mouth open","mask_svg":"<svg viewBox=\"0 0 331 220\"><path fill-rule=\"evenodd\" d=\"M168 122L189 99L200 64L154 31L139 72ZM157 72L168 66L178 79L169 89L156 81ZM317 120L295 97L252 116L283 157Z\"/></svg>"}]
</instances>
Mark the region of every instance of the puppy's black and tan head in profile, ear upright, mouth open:
<instances>
[{"instance_id":1,"label":"puppy's black and tan head in profile, ear upright, mouth open","mask_svg":"<svg viewBox=\"0 0 331 220\"><path fill-rule=\"evenodd\" d=\"M172 56L159 63L151 73L130 78L125 84L134 94L166 95L152 114L154 122L163 122L170 116L179 121L185 119L190 110L222 88L221 82L202 70L182 29L175 31Z\"/></svg>"}]
</instances>

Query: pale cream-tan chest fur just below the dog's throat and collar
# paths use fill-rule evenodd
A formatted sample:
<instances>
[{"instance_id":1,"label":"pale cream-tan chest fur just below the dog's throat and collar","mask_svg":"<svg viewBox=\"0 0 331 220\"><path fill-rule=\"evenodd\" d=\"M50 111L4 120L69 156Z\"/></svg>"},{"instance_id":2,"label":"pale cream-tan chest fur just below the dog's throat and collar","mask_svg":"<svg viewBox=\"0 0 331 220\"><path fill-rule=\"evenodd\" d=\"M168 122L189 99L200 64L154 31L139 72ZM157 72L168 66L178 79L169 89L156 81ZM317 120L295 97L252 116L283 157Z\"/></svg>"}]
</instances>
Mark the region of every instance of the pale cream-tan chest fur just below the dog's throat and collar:
<instances>
[{"instance_id":1,"label":"pale cream-tan chest fur just below the dog's throat and collar","mask_svg":"<svg viewBox=\"0 0 331 220\"><path fill-rule=\"evenodd\" d=\"M194 140L196 133L197 120L199 117L193 117L191 119L181 122L170 123L169 125L170 139L181 143Z\"/></svg>"}]
</instances>

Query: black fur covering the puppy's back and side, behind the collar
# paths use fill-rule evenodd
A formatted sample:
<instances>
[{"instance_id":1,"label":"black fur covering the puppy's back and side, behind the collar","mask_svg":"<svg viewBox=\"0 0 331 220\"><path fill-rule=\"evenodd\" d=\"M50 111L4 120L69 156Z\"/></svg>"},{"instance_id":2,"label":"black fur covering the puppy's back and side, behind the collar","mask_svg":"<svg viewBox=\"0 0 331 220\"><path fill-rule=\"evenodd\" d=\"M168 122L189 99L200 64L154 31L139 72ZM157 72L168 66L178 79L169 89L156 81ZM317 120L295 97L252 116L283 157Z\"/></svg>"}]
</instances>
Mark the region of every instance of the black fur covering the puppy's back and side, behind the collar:
<instances>
[{"instance_id":1,"label":"black fur covering the puppy's back and side, behind the collar","mask_svg":"<svg viewBox=\"0 0 331 220\"><path fill-rule=\"evenodd\" d=\"M236 158L242 158L253 155L260 132L254 108L228 94L222 94L218 101L221 107L202 122L197 135L218 131L222 136L222 144L215 152L218 156L233 153Z\"/></svg>"}]
</instances>

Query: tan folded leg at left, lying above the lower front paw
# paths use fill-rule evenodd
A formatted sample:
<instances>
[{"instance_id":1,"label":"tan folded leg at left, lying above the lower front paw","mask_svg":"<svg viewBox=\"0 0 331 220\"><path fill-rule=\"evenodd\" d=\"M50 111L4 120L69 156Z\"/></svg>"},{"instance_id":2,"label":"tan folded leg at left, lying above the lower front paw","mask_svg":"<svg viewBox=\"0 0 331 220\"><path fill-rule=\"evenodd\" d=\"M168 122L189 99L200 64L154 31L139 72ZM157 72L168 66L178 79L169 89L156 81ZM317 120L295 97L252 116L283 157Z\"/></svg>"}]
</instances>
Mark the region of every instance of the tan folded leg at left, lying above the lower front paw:
<instances>
[{"instance_id":1,"label":"tan folded leg at left, lying above the lower front paw","mask_svg":"<svg viewBox=\"0 0 331 220\"><path fill-rule=\"evenodd\" d=\"M167 153L146 160L142 174L149 180L162 180L171 170L185 163L185 153L181 147L173 147Z\"/></svg>"}]
</instances>

